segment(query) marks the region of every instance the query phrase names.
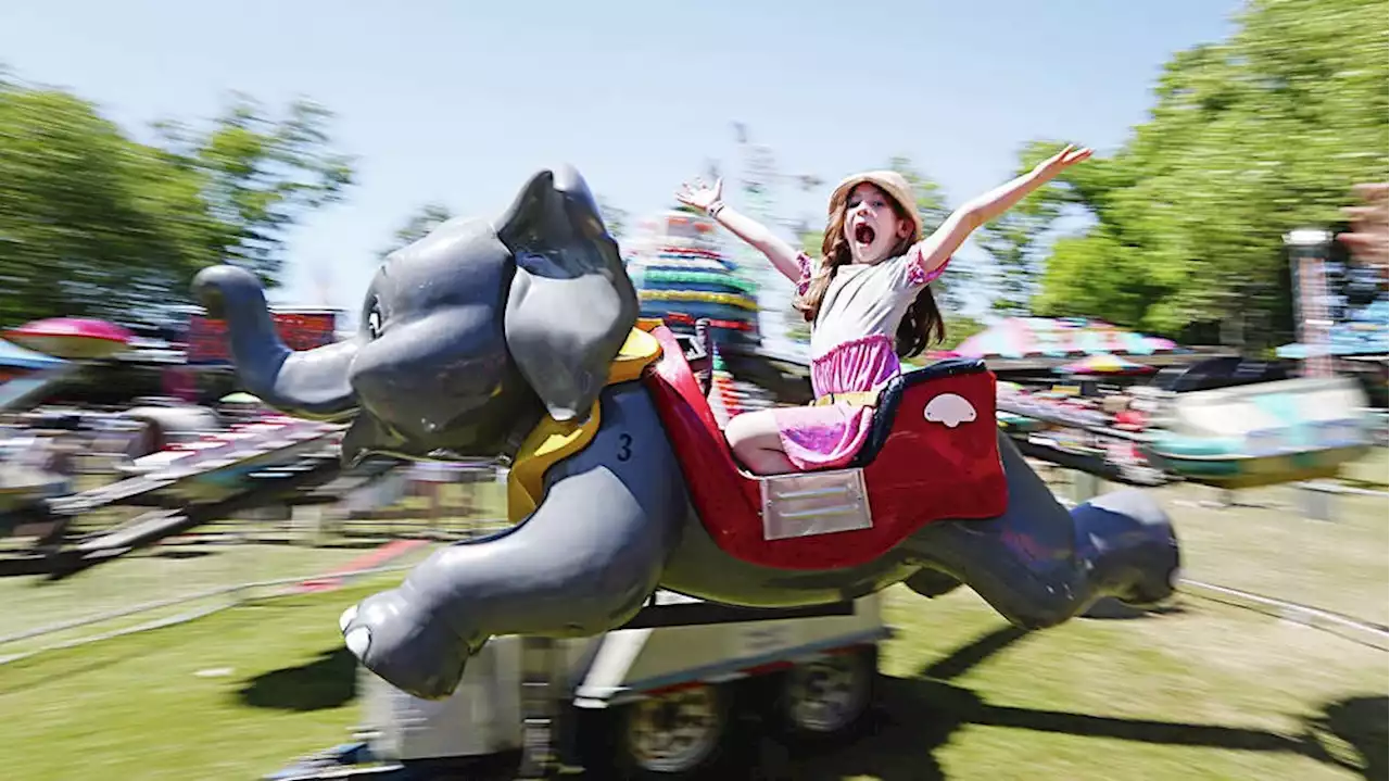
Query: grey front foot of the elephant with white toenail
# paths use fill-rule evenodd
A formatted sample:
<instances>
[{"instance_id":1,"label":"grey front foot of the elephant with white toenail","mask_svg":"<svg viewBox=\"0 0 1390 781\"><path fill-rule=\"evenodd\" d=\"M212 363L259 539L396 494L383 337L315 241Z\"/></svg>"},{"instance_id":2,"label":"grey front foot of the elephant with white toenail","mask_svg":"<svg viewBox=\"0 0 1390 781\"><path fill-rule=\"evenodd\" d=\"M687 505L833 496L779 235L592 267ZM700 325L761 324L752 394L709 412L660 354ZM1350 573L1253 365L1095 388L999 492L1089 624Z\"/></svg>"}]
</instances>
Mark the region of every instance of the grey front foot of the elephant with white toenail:
<instances>
[{"instance_id":1,"label":"grey front foot of the elephant with white toenail","mask_svg":"<svg viewBox=\"0 0 1390 781\"><path fill-rule=\"evenodd\" d=\"M459 687L473 649L421 602L400 588L384 591L345 610L338 625L363 667L411 696L443 699Z\"/></svg>"}]
</instances>

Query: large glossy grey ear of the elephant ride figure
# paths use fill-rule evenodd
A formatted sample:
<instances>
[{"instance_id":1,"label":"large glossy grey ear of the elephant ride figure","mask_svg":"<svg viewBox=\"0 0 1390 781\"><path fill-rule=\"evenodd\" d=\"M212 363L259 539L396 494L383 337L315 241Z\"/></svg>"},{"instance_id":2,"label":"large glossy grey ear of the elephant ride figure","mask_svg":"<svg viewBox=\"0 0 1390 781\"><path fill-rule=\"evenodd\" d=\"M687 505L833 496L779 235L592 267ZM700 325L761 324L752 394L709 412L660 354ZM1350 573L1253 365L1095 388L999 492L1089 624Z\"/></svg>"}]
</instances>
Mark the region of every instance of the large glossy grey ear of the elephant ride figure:
<instances>
[{"instance_id":1,"label":"large glossy grey ear of the elephant ride figure","mask_svg":"<svg viewBox=\"0 0 1390 781\"><path fill-rule=\"evenodd\" d=\"M496 231L516 261L507 349L550 417L582 422L637 324L617 242L573 168L532 176Z\"/></svg>"}]
</instances>

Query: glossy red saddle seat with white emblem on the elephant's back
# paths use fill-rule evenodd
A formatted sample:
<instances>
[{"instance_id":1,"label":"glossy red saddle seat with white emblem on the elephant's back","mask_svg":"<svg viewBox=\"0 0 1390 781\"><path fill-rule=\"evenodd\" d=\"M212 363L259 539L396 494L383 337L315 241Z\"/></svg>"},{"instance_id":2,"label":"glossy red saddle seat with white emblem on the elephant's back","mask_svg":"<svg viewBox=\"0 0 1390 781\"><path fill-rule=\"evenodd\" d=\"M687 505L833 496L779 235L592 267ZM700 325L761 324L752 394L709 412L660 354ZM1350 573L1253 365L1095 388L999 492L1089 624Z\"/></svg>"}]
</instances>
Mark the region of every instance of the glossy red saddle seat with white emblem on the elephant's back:
<instances>
[{"instance_id":1,"label":"glossy red saddle seat with white emblem on the elephant's back","mask_svg":"<svg viewBox=\"0 0 1390 781\"><path fill-rule=\"evenodd\" d=\"M1004 513L1008 489L994 420L994 375L983 364L974 371L948 372L929 367L898 378L884 390L891 397L881 399L876 410L887 417L876 421L874 452L866 453L862 467L872 527L766 539L762 481L735 463L676 336L663 325L652 335L662 345L662 357L644 374L644 382L701 523L730 556L785 570L852 567L883 556L923 524ZM973 410L973 416L960 421L962 410ZM942 422L942 416L952 420Z\"/></svg>"}]
</instances>

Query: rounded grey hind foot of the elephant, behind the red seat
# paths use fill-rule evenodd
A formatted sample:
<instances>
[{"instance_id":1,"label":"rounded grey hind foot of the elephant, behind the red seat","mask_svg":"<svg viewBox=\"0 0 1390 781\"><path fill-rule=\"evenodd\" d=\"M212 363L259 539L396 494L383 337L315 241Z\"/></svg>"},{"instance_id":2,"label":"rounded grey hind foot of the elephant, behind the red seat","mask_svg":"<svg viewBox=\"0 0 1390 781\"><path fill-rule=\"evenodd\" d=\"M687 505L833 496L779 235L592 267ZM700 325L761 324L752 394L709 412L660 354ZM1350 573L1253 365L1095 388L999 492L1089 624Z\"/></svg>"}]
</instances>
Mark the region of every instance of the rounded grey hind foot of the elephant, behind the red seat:
<instances>
[{"instance_id":1,"label":"rounded grey hind foot of the elephant, behind the red seat","mask_svg":"<svg viewBox=\"0 0 1390 781\"><path fill-rule=\"evenodd\" d=\"M1177 589L1182 556L1163 509L1140 491L1101 495L1072 510L1077 559L1095 598L1154 607Z\"/></svg>"}]
</instances>

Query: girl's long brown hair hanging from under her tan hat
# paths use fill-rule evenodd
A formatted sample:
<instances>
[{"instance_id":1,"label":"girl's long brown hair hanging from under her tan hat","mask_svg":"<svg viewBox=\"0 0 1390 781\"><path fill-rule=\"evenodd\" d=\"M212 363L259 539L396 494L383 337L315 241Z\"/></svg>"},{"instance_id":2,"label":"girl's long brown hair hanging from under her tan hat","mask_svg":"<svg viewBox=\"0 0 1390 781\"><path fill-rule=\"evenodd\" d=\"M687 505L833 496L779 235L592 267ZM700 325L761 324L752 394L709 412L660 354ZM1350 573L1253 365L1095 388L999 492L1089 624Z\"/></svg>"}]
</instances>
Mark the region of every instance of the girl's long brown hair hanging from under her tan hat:
<instances>
[{"instance_id":1,"label":"girl's long brown hair hanging from under her tan hat","mask_svg":"<svg viewBox=\"0 0 1390 781\"><path fill-rule=\"evenodd\" d=\"M870 185L883 193L881 188ZM894 214L899 220L908 220L908 213L898 203L898 199L883 193L884 199L892 204ZM810 286L806 288L806 293L796 296L792 306L796 311L806 318L808 322L815 322L816 317L820 314L820 304L826 300L826 290L830 289L830 281L835 278L835 272L840 271L841 265L847 265L853 261L849 254L849 242L845 239L845 217L849 214L849 199L845 199L844 206L835 211L830 218L830 224L826 225L826 235L820 240L820 268L810 278ZM888 253L888 257L898 257L906 253L913 242L915 236L902 238L898 245ZM941 310L937 309L937 300L931 296L931 288L923 288L917 293L917 299L912 302L908 307L906 314L902 315L902 321L898 322L898 334L895 339L895 349L899 357L909 359L912 356L920 354L927 345L931 342L940 342L947 338L945 320L941 317Z\"/></svg>"}]
</instances>

